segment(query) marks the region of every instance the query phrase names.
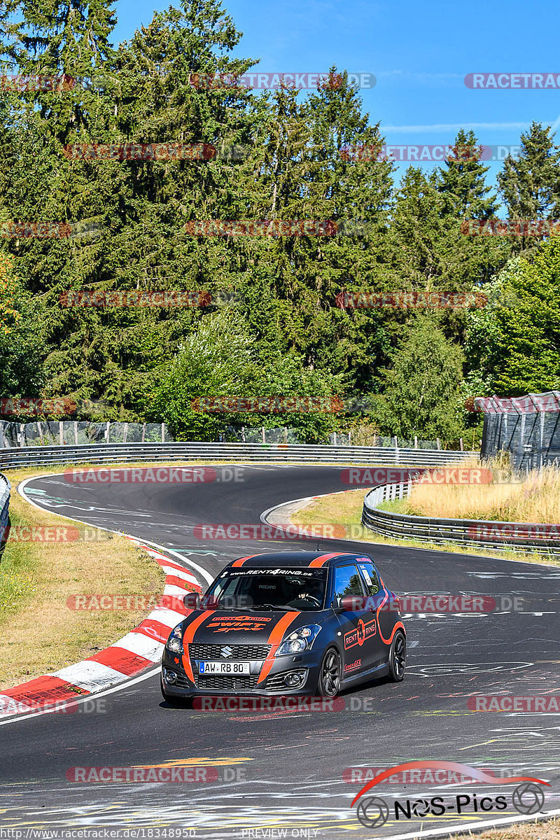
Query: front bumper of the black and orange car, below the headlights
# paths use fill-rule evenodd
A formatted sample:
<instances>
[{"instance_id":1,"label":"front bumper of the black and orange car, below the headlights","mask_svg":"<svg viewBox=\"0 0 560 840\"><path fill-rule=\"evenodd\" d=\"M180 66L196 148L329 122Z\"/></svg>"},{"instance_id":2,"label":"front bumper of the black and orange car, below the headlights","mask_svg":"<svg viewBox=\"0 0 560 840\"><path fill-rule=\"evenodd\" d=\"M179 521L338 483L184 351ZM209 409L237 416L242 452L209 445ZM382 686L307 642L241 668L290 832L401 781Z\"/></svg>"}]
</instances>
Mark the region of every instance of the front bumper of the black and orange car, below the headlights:
<instances>
[{"instance_id":1,"label":"front bumper of the black and orange car, below the headlights","mask_svg":"<svg viewBox=\"0 0 560 840\"><path fill-rule=\"evenodd\" d=\"M175 660L179 659L177 662ZM280 696L301 695L315 696L319 679L319 666L322 650L311 648L302 654L290 654L274 659L272 667L264 680L259 682L263 659L251 659L249 675L199 675L198 661L191 659L194 682L186 675L181 663L181 657L173 654L167 648L161 661L161 674L165 693L172 697L195 697L207 695L255 695ZM169 674L175 675L175 681L170 682ZM303 679L299 685L285 681L287 674L301 674Z\"/></svg>"}]
</instances>

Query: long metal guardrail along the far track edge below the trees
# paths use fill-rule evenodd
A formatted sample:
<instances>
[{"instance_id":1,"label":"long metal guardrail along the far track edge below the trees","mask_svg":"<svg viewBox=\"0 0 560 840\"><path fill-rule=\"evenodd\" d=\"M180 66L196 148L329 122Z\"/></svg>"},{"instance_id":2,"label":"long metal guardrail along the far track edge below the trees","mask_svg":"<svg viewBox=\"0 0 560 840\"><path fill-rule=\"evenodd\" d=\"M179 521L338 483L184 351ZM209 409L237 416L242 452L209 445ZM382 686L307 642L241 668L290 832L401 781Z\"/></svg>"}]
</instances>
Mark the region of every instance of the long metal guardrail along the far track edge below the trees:
<instances>
[{"instance_id":1,"label":"long metal guardrail along the far track edge below the trees","mask_svg":"<svg viewBox=\"0 0 560 840\"><path fill-rule=\"evenodd\" d=\"M479 452L312 444L85 444L0 449L0 468L48 464L111 464L152 460L272 461L368 466L442 466L479 458Z\"/></svg>"}]
</instances>

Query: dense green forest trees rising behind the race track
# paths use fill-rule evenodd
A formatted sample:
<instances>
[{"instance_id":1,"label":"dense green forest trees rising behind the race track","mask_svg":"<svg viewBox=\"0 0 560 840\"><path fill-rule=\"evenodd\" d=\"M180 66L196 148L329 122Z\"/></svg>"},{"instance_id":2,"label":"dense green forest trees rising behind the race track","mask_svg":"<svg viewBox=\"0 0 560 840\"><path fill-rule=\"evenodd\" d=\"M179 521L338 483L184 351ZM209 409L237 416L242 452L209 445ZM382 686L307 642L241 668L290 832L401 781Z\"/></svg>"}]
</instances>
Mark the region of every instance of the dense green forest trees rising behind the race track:
<instances>
[{"instance_id":1,"label":"dense green forest trees rising behind the race track","mask_svg":"<svg viewBox=\"0 0 560 840\"><path fill-rule=\"evenodd\" d=\"M3 240L19 278L17 288L0 290L11 330L0 331L7 396L92 400L103 407L96 419L165 420L183 438L264 424L324 440L365 419L368 440L378 427L452 440L461 424L479 420L463 412L465 396L557 381L552 257L541 259L534 241L461 232L464 219L496 212L487 167L464 154L477 148L472 131L458 132L457 155L432 174L411 167L395 187L394 165L377 154L379 121L364 112L346 71L332 66L330 82L307 97L290 87L256 95L191 83L196 74L235 76L256 63L234 57L241 34L218 0L182 0L116 46L109 0L8 0L0 19L5 71L78 80L64 91L3 92L0 224L87 223L100 231ZM212 144L218 154L81 160L65 153L67 144L92 143ZM560 158L549 129L533 125L522 143L521 160L507 160L500 176L510 214L558 213ZM241 154L228 154L232 146ZM187 232L186 223L211 219L349 221L361 230ZM534 262L519 269L517 283L516 264L504 266L520 248ZM419 317L338 306L343 291L484 288L500 298L506 287L522 299L510 314L488 307ZM65 307L60 295L68 290L207 290L214 300L225 291L234 302ZM356 412L225 415L191 407L201 396L344 394L374 398L375 429L372 417Z\"/></svg>"}]
</instances>

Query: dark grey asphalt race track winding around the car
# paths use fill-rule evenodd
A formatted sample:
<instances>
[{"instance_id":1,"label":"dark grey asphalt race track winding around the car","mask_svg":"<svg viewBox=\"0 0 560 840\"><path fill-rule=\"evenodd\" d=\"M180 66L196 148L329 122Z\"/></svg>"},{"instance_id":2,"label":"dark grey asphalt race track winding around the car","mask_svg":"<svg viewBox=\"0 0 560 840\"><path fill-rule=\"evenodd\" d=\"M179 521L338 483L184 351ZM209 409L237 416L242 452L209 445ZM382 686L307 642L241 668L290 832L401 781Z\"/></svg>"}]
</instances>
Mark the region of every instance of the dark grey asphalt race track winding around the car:
<instances>
[{"instance_id":1,"label":"dark grey asphalt race track winding around the car","mask_svg":"<svg viewBox=\"0 0 560 840\"><path fill-rule=\"evenodd\" d=\"M220 468L216 468L220 470ZM26 494L41 507L173 549L213 576L234 557L278 549L262 541L201 540L201 523L259 523L281 502L348 489L340 468L252 466L243 481L81 485L63 475L31 480ZM317 541L283 542L286 550ZM411 614L403 683L385 681L346 692L345 711L210 712L174 709L160 696L159 670L103 695L104 713L48 714L0 724L0 827L192 829L188 837L437 836L474 822L519 817L515 785L397 783L372 791L392 801L440 795L443 816L394 814L363 827L350 807L364 782L344 770L438 759L550 782L542 810L560 808L558 714L469 711L468 696L550 695L560 676L560 567L459 554L321 540L318 548L360 550L379 564L396 593L476 594L521 599L522 612ZM107 562L110 554L107 553ZM40 615L37 617L40 621ZM22 639L22 656L26 655ZM71 783L75 766L192 764L217 769L217 780L192 783ZM216 771L212 771L216 775ZM348 774L347 774L348 776ZM506 795L505 811L458 815L457 794ZM481 826L479 826L481 827ZM149 834L149 829L153 833ZM156 829L158 831L156 832ZM286 831L285 833L284 830ZM252 832L252 833L251 833ZM15 835L13 835L15 836ZM25 833L22 837L29 836ZM131 832L130 837L133 837ZM173 836L167 834L166 836ZM175 836L180 836L179 834Z\"/></svg>"}]
</instances>

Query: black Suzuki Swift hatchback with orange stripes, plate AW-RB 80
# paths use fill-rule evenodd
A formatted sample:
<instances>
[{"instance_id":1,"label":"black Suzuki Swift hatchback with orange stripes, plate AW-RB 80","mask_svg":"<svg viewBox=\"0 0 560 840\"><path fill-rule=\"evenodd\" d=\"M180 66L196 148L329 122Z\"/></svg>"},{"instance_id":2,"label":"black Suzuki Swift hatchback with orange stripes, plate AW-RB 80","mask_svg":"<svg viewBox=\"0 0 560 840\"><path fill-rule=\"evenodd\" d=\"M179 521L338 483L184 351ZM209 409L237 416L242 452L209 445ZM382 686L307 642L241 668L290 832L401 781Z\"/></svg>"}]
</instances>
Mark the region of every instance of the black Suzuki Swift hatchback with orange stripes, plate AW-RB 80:
<instances>
[{"instance_id":1,"label":"black Suzuki Swift hatchback with orange stripes, plate AW-RB 80","mask_svg":"<svg viewBox=\"0 0 560 840\"><path fill-rule=\"evenodd\" d=\"M318 695L405 675L400 603L362 554L283 552L233 560L165 644L161 691Z\"/></svg>"}]
</instances>

